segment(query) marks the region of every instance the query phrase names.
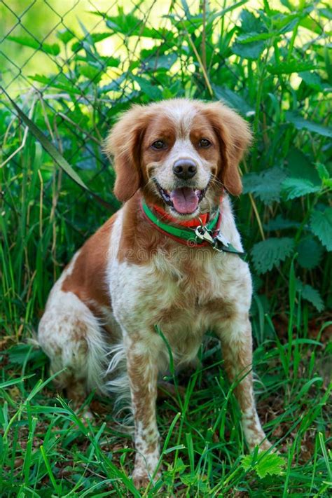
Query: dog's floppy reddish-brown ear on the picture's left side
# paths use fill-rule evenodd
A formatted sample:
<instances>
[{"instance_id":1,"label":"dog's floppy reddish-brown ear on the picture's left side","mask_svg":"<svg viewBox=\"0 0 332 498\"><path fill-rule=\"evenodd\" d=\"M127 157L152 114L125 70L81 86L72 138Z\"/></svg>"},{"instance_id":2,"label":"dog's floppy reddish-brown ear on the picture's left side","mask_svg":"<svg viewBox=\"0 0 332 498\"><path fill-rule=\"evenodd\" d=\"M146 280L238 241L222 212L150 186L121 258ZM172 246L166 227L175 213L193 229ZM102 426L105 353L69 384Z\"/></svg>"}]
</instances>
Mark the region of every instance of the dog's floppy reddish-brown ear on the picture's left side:
<instances>
[{"instance_id":1,"label":"dog's floppy reddish-brown ear on the picture's left side","mask_svg":"<svg viewBox=\"0 0 332 498\"><path fill-rule=\"evenodd\" d=\"M140 144L148 122L146 108L133 106L118 120L106 138L104 151L113 155L116 183L114 194L125 202L142 186Z\"/></svg>"}]
</instances>

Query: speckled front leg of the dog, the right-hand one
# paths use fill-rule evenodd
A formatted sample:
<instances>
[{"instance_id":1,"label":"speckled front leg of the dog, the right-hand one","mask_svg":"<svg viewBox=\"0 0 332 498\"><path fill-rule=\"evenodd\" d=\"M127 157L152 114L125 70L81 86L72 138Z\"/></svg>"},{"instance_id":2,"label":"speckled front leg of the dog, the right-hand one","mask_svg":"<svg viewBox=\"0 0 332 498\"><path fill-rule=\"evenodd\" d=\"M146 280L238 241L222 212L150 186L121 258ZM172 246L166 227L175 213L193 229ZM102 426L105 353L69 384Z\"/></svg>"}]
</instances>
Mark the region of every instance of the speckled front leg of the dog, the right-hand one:
<instances>
[{"instance_id":1,"label":"speckled front leg of the dog, the right-hand one","mask_svg":"<svg viewBox=\"0 0 332 498\"><path fill-rule=\"evenodd\" d=\"M242 428L250 450L270 448L256 411L252 376L252 338L248 314L221 321L217 333L221 340L224 366L230 382L237 383L235 396L242 411Z\"/></svg>"}]
</instances>

